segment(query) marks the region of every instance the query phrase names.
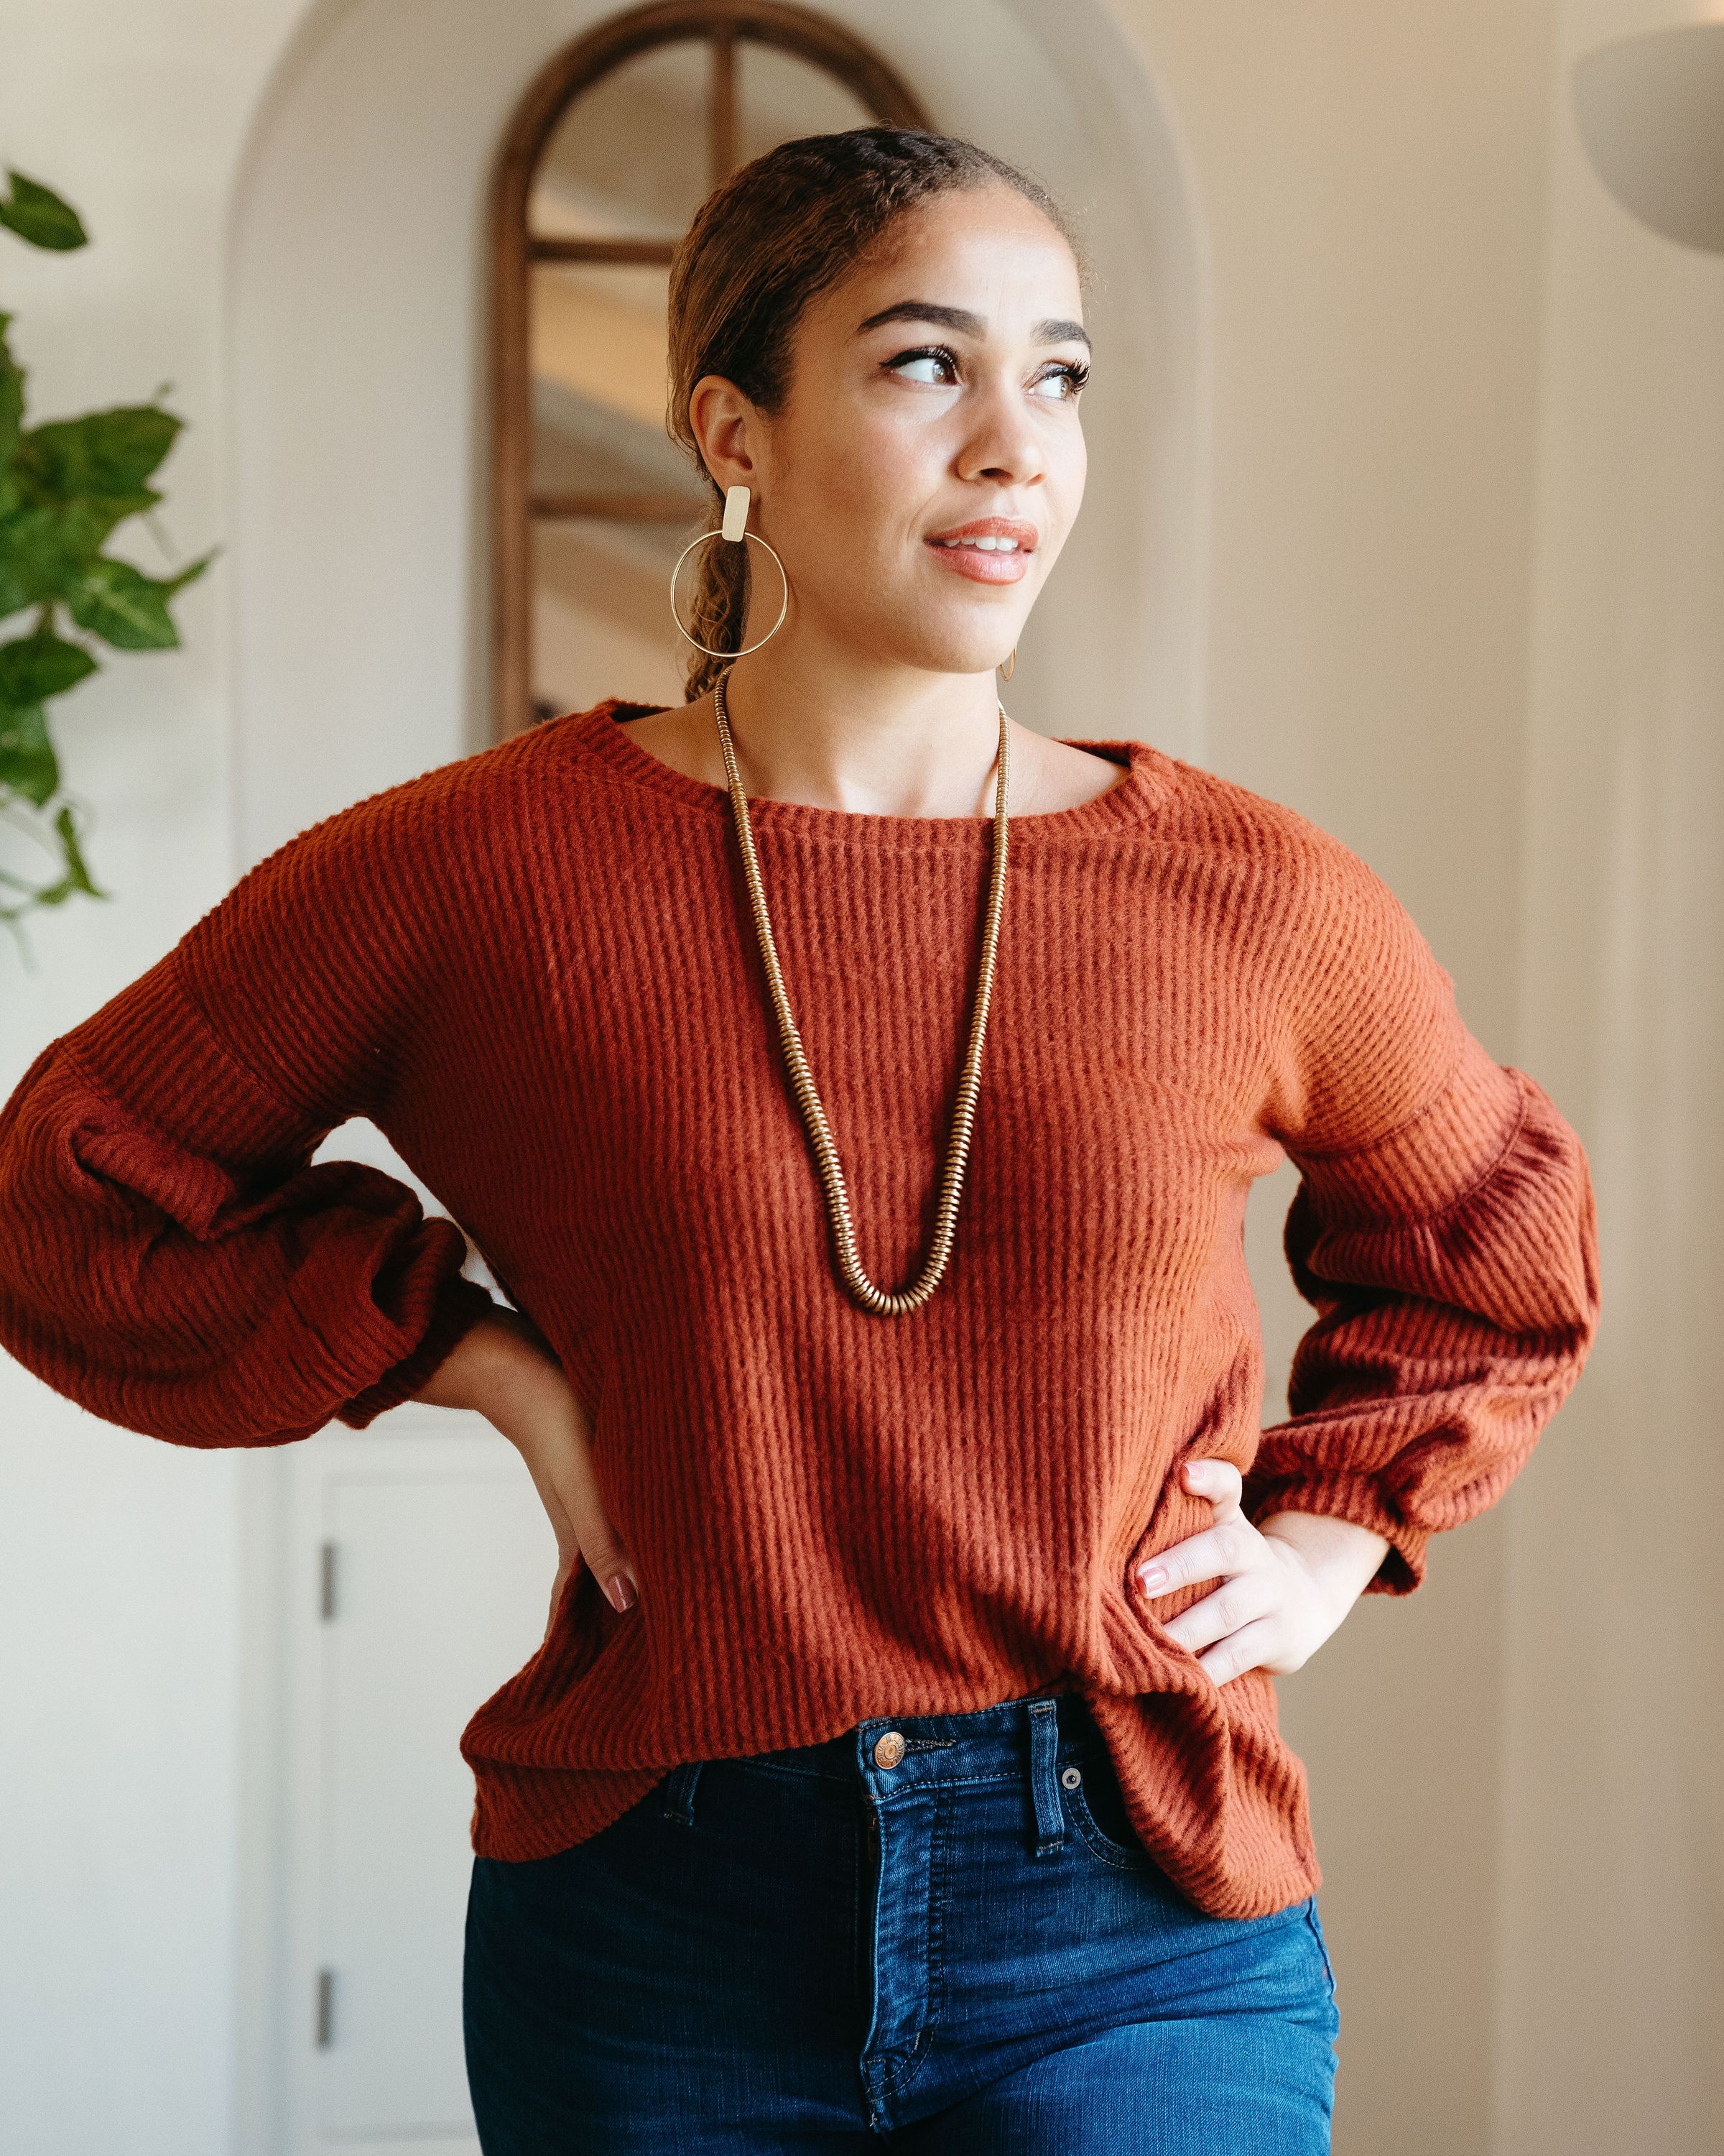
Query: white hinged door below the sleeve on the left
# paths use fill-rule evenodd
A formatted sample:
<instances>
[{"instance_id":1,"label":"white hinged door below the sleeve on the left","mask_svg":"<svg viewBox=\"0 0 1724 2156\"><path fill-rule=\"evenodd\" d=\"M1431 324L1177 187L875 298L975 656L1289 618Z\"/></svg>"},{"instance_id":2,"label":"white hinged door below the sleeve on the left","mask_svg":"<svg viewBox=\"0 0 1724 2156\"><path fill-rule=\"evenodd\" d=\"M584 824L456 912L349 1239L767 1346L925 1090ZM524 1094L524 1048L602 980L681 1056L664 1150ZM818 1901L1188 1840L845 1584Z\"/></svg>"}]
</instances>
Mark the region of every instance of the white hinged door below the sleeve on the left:
<instances>
[{"instance_id":1,"label":"white hinged door below the sleeve on the left","mask_svg":"<svg viewBox=\"0 0 1724 2156\"><path fill-rule=\"evenodd\" d=\"M291 1453L287 2152L468 2156L457 1744L539 1645L556 1544L476 1416L409 1404Z\"/></svg>"}]
</instances>

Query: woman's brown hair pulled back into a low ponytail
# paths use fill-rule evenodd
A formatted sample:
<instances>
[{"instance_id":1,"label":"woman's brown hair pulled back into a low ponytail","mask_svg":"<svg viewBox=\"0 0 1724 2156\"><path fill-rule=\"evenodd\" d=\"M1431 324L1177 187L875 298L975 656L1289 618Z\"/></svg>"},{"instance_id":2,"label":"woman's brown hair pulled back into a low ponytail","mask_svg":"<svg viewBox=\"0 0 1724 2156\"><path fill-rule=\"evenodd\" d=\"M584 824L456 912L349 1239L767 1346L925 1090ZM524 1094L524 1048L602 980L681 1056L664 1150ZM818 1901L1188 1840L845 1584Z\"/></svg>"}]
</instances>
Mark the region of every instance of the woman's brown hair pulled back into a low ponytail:
<instances>
[{"instance_id":1,"label":"woman's brown hair pulled back into a low ponytail","mask_svg":"<svg viewBox=\"0 0 1724 2156\"><path fill-rule=\"evenodd\" d=\"M959 188L1015 188L1054 224L1088 278L1082 239L1041 181L957 136L920 127L847 127L797 136L739 166L700 209L670 261L670 403L666 427L711 487L713 524L724 509L687 423L694 384L724 375L763 412L782 410L791 332L819 293L836 285L916 203ZM735 651L748 619L750 548L694 554L698 589L690 634ZM771 576L771 569L767 569ZM687 701L731 662L690 649Z\"/></svg>"}]
</instances>

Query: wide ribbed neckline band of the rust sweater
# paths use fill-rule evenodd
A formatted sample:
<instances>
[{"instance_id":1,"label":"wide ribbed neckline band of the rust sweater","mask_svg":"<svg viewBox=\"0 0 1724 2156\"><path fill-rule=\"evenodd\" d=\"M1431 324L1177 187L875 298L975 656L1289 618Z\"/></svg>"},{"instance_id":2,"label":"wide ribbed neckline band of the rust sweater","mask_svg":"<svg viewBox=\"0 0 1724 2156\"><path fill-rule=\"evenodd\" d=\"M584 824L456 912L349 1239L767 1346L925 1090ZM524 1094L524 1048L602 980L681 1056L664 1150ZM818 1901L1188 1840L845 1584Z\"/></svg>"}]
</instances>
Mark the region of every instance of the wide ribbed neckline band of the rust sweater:
<instances>
[{"instance_id":1,"label":"wide ribbed neckline band of the rust sweater","mask_svg":"<svg viewBox=\"0 0 1724 2156\"><path fill-rule=\"evenodd\" d=\"M657 703L631 703L625 696L606 696L588 711L571 711L565 724L575 740L588 746L610 770L636 785L651 787L670 800L707 815L731 815L731 789L711 785L705 778L690 778L675 765L655 757L640 742L629 740L627 720L659 711ZM1131 737L1118 740L1075 740L1058 735L1067 748L1088 748L1108 757L1110 763L1125 765L1125 778L1078 802L1075 808L1045 808L1030 815L1011 815L1013 832L1047 830L1049 834L1106 832L1142 824L1155 808L1159 787L1155 765L1162 750L1149 742ZM812 802L780 802L771 796L748 796L748 817L756 830L774 828L787 837L847 839L856 843L916 843L916 845L974 845L993 830L993 813L987 815L875 815L866 808L819 808Z\"/></svg>"}]
</instances>

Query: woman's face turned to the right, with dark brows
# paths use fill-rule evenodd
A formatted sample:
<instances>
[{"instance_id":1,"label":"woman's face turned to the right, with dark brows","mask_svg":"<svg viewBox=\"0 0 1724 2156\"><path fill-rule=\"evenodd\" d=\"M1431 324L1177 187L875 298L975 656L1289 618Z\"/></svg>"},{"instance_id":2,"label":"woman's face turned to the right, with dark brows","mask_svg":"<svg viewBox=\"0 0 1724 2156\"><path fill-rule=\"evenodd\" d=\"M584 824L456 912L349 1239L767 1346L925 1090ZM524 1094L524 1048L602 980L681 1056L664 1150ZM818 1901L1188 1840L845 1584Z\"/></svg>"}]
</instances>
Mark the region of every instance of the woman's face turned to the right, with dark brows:
<instances>
[{"instance_id":1,"label":"woman's face turned to the right, with dark brows","mask_svg":"<svg viewBox=\"0 0 1724 2156\"><path fill-rule=\"evenodd\" d=\"M784 627L931 673L998 666L1084 498L1086 360L1078 265L1032 203L1002 185L905 211L804 310L782 410L733 405L754 470L731 479L789 571ZM782 595L752 567L746 642Z\"/></svg>"}]
</instances>

